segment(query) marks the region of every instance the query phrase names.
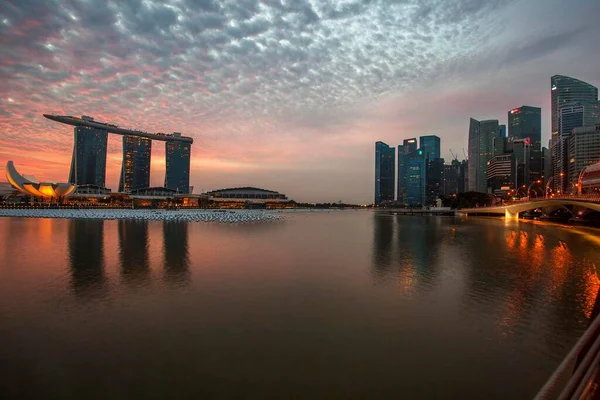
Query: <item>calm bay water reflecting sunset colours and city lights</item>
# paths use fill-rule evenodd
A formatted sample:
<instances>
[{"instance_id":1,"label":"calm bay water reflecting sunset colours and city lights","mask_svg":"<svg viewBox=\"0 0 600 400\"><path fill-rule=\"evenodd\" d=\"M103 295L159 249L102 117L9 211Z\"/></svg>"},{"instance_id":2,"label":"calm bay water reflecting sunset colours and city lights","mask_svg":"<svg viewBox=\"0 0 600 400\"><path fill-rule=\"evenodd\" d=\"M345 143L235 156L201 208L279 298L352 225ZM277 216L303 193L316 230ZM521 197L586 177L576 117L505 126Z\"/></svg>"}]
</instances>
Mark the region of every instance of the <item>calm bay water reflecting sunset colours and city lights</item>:
<instances>
[{"instance_id":1,"label":"calm bay water reflecting sunset colours and city lights","mask_svg":"<svg viewBox=\"0 0 600 400\"><path fill-rule=\"evenodd\" d=\"M594 230L284 215L0 219L0 397L531 398L600 286Z\"/></svg>"}]
</instances>

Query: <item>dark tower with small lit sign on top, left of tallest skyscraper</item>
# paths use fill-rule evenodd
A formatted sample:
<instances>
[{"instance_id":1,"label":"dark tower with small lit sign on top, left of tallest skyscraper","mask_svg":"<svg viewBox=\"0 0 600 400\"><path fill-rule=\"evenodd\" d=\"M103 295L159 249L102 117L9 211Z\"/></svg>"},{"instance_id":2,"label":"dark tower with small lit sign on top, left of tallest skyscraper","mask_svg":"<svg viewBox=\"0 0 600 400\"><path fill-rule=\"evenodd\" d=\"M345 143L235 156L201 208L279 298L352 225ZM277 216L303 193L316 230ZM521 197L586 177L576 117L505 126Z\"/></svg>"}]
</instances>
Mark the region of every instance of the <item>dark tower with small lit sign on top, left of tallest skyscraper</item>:
<instances>
[{"instance_id":1,"label":"dark tower with small lit sign on top, left of tallest skyscraper","mask_svg":"<svg viewBox=\"0 0 600 400\"><path fill-rule=\"evenodd\" d=\"M529 140L529 158L524 162L523 184L542 177L542 109L521 106L508 112L508 137Z\"/></svg>"}]
</instances>

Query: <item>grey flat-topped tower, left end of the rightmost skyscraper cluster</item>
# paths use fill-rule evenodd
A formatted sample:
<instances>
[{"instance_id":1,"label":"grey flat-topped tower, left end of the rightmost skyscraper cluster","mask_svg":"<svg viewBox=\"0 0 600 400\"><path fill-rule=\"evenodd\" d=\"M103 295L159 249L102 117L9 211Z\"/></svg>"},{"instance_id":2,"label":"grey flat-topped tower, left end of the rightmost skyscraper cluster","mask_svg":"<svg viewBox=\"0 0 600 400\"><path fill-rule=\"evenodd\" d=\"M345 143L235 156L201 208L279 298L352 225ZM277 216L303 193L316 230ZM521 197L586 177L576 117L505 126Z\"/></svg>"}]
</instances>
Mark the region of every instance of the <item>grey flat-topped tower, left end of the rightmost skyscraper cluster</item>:
<instances>
[{"instance_id":1,"label":"grey flat-topped tower, left end of the rightmost skyscraper cluster","mask_svg":"<svg viewBox=\"0 0 600 400\"><path fill-rule=\"evenodd\" d=\"M494 138L500 137L498 120L469 122L469 191L487 192L485 171L492 157Z\"/></svg>"}]
</instances>

